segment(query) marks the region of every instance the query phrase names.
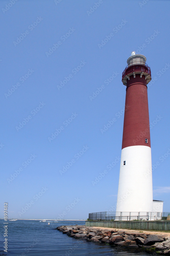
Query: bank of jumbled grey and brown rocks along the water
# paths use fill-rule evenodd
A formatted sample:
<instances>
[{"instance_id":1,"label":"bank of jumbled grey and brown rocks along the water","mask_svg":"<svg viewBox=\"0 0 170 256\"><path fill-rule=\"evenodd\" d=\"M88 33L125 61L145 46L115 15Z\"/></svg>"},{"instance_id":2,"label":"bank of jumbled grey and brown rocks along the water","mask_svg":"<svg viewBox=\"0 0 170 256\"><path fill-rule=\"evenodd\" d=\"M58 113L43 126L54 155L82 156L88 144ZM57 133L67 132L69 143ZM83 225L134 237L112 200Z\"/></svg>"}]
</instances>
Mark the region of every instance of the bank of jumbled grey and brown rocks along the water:
<instances>
[{"instance_id":1,"label":"bank of jumbled grey and brown rocks along the water","mask_svg":"<svg viewBox=\"0 0 170 256\"><path fill-rule=\"evenodd\" d=\"M148 252L170 255L170 236L143 232L126 232L87 226L60 226L56 228L70 237L89 242L107 243L111 246L139 248Z\"/></svg>"}]
</instances>

